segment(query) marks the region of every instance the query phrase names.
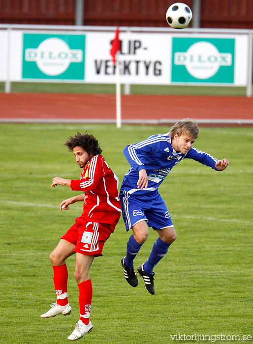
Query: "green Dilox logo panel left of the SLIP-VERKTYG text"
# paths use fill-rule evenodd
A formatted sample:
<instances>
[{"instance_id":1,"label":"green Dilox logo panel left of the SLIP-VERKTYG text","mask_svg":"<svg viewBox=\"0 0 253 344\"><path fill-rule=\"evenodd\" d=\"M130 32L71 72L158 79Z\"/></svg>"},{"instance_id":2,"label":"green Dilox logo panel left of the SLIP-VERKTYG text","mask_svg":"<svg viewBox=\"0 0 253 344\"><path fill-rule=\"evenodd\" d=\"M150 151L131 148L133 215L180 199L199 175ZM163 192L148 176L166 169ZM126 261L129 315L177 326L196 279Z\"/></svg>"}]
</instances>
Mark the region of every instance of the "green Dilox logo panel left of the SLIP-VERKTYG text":
<instances>
[{"instance_id":1,"label":"green Dilox logo panel left of the SLIP-VERKTYG text","mask_svg":"<svg viewBox=\"0 0 253 344\"><path fill-rule=\"evenodd\" d=\"M23 35L24 79L84 80L85 35Z\"/></svg>"}]
</instances>

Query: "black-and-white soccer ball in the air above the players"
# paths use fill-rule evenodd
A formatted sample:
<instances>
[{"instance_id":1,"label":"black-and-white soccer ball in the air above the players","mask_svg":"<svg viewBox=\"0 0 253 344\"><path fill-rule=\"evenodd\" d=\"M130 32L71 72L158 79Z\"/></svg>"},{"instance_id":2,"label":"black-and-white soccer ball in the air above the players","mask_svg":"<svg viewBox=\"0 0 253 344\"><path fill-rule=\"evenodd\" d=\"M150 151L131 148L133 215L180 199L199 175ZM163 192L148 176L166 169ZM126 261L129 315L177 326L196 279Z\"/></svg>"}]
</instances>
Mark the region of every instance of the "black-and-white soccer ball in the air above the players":
<instances>
[{"instance_id":1,"label":"black-and-white soccer ball in the air above the players","mask_svg":"<svg viewBox=\"0 0 253 344\"><path fill-rule=\"evenodd\" d=\"M192 18L191 9L183 2L173 3L166 12L166 20L174 29L185 29Z\"/></svg>"}]
</instances>

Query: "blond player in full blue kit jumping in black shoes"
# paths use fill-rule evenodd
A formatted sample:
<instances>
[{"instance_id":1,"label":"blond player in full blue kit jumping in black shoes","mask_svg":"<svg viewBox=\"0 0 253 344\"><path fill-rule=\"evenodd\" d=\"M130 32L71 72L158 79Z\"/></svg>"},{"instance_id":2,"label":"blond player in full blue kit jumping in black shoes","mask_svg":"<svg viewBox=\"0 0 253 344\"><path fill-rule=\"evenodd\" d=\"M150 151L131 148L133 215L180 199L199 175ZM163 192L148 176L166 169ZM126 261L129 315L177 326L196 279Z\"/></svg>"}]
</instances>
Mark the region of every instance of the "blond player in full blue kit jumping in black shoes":
<instances>
[{"instance_id":1,"label":"blond player in full blue kit jumping in black shoes","mask_svg":"<svg viewBox=\"0 0 253 344\"><path fill-rule=\"evenodd\" d=\"M133 259L149 235L148 226L158 232L149 258L137 268L150 294L155 294L153 268L176 239L170 213L158 192L159 185L183 159L196 160L216 171L225 170L229 164L225 158L217 160L194 148L198 134L197 123L186 118L178 121L169 133L153 135L145 141L126 146L123 151L131 167L124 176L120 200L126 230L132 229L133 234L129 237L126 256L121 263L126 281L136 287L138 279Z\"/></svg>"}]
</instances>

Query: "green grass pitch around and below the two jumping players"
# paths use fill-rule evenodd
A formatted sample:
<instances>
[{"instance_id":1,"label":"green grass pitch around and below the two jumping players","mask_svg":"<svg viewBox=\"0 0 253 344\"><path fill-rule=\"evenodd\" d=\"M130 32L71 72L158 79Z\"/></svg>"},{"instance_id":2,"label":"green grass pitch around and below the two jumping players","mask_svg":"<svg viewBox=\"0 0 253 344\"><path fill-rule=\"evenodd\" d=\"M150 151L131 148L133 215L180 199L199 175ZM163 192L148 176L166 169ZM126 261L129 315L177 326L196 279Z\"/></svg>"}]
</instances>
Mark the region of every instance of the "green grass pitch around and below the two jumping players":
<instances>
[{"instance_id":1,"label":"green grass pitch around and below the two jumping players","mask_svg":"<svg viewBox=\"0 0 253 344\"><path fill-rule=\"evenodd\" d=\"M61 201L77 193L51 188L51 180L78 178L80 169L63 143L86 129L121 182L128 170L125 145L169 128L0 124L0 344L69 343L79 319L74 256L67 262L71 315L40 315L56 299L49 254L82 211L80 203L60 212ZM120 220L90 271L94 331L80 343L197 343L194 334L207 336L201 343L253 343L252 144L252 127L201 128L194 146L226 157L230 166L215 172L186 160L161 185L178 237L155 268L154 296L140 279L132 288L123 277L120 260L129 234ZM150 230L135 267L146 260L155 239ZM188 337L173 341L176 334ZM227 337L219 340L221 334Z\"/></svg>"}]
</instances>

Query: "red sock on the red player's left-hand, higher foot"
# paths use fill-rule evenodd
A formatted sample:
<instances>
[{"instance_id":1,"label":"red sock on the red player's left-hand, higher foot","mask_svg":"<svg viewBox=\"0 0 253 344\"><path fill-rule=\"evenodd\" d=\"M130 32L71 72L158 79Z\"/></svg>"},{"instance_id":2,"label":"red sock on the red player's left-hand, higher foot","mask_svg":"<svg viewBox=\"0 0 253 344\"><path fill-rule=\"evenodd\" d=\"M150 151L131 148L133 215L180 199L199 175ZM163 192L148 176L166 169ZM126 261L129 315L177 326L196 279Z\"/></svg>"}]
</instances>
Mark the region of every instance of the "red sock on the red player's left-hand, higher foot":
<instances>
[{"instance_id":1,"label":"red sock on the red player's left-hand, higher foot","mask_svg":"<svg viewBox=\"0 0 253 344\"><path fill-rule=\"evenodd\" d=\"M67 265L52 266L54 270L54 284L57 295L57 304L65 306L67 300Z\"/></svg>"}]
</instances>

